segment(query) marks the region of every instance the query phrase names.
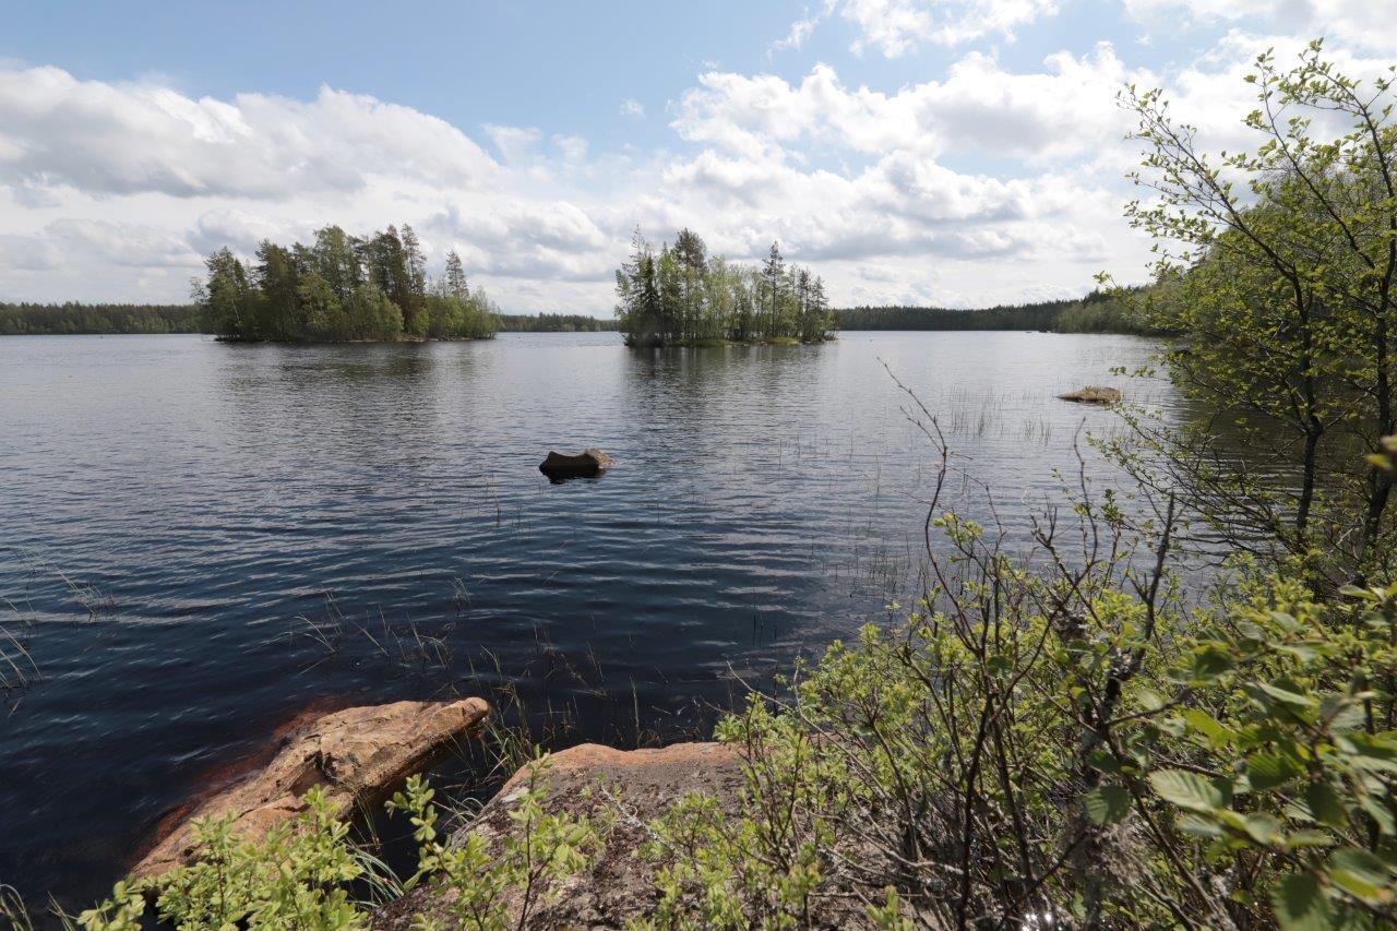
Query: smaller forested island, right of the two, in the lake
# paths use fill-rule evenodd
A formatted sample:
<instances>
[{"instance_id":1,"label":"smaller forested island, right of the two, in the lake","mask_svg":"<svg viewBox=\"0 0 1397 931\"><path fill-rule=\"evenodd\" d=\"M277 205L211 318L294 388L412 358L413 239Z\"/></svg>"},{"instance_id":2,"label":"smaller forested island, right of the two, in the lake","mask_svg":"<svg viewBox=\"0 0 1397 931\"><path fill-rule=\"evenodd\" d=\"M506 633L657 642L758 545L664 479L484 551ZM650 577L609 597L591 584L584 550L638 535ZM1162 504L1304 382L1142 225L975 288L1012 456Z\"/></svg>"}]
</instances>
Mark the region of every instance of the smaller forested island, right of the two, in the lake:
<instances>
[{"instance_id":1,"label":"smaller forested island, right of the two, in the lake","mask_svg":"<svg viewBox=\"0 0 1397 931\"><path fill-rule=\"evenodd\" d=\"M637 229L616 298L627 345L820 342L834 329L824 281L788 267L778 243L760 266L729 263L692 229L658 253Z\"/></svg>"}]
</instances>

